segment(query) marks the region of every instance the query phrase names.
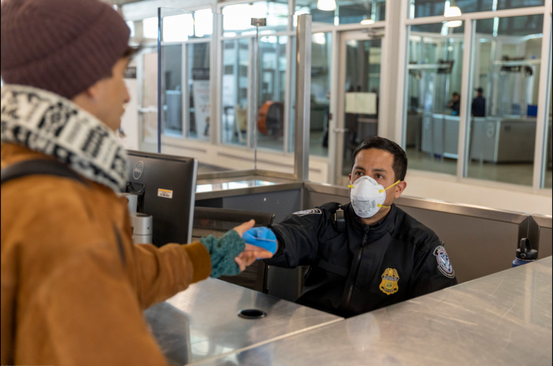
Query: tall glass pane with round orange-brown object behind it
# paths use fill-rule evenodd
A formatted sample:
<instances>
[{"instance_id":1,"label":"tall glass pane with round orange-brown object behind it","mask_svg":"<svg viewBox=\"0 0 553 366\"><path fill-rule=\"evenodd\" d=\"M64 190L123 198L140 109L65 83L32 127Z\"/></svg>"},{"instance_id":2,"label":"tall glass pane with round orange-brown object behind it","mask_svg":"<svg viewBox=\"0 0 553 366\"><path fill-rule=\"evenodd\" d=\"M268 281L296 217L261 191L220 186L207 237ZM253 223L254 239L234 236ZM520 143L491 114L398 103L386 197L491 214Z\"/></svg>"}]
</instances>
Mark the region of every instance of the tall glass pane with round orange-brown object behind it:
<instances>
[{"instance_id":1,"label":"tall glass pane with round orange-brown object behind it","mask_svg":"<svg viewBox=\"0 0 553 366\"><path fill-rule=\"evenodd\" d=\"M259 39L257 146L283 151L288 37Z\"/></svg>"}]
</instances>

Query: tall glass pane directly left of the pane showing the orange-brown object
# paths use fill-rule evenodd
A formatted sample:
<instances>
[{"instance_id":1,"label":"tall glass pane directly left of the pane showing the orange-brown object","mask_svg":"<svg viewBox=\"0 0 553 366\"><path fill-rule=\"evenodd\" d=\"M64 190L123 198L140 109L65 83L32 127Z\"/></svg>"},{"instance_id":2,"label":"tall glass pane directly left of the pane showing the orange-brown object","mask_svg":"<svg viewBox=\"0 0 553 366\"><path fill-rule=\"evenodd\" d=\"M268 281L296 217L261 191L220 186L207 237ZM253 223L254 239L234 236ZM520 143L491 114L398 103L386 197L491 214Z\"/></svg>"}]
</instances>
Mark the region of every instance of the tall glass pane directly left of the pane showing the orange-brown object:
<instances>
[{"instance_id":1,"label":"tall glass pane directly left of the pane showing the orange-brown object","mask_svg":"<svg viewBox=\"0 0 553 366\"><path fill-rule=\"evenodd\" d=\"M223 42L221 135L223 143L247 145L247 89L250 40Z\"/></svg>"}]
</instances>

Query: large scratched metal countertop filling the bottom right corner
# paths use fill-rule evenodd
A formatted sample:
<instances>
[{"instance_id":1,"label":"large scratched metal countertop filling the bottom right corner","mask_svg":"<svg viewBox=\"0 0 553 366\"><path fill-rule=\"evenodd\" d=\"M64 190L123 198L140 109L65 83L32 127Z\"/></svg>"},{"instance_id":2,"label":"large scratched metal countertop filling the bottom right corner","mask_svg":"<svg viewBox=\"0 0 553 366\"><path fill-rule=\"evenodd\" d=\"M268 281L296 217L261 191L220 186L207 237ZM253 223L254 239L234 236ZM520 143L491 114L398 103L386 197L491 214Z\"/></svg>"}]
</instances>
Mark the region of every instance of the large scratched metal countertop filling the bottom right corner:
<instances>
[{"instance_id":1,"label":"large scratched metal countertop filling the bottom right corner","mask_svg":"<svg viewBox=\"0 0 553 366\"><path fill-rule=\"evenodd\" d=\"M551 365L552 257L198 365Z\"/></svg>"}]
</instances>

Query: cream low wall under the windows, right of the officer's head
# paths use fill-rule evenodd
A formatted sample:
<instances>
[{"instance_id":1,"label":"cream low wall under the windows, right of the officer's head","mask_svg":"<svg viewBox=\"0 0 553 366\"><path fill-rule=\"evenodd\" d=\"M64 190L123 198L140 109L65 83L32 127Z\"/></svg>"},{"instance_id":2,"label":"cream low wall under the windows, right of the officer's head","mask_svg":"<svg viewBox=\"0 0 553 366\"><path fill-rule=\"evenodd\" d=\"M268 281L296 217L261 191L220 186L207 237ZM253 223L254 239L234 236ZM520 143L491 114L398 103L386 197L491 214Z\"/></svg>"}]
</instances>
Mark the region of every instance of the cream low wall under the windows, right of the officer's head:
<instances>
[{"instance_id":1,"label":"cream low wall under the windows, right of the officer's head","mask_svg":"<svg viewBox=\"0 0 553 366\"><path fill-rule=\"evenodd\" d=\"M460 183L453 179L422 176L413 172L407 172L405 181L406 196L530 214L553 214L552 199L548 194L521 192L478 183Z\"/></svg>"}]
</instances>

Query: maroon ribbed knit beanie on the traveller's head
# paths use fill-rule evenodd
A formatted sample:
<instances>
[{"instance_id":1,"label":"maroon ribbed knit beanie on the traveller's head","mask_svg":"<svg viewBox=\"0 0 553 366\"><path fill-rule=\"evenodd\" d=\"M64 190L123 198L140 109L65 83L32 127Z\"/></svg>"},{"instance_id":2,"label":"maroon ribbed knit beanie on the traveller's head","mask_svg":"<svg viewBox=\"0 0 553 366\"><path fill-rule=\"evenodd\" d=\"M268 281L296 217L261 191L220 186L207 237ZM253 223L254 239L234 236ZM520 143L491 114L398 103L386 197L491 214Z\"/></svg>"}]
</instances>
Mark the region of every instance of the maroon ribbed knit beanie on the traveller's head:
<instances>
[{"instance_id":1,"label":"maroon ribbed knit beanie on the traveller's head","mask_svg":"<svg viewBox=\"0 0 553 366\"><path fill-rule=\"evenodd\" d=\"M4 0L2 79L71 99L110 75L129 34L118 12L98 0Z\"/></svg>"}]
</instances>

